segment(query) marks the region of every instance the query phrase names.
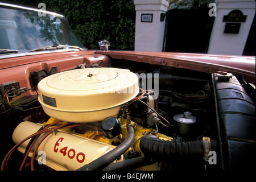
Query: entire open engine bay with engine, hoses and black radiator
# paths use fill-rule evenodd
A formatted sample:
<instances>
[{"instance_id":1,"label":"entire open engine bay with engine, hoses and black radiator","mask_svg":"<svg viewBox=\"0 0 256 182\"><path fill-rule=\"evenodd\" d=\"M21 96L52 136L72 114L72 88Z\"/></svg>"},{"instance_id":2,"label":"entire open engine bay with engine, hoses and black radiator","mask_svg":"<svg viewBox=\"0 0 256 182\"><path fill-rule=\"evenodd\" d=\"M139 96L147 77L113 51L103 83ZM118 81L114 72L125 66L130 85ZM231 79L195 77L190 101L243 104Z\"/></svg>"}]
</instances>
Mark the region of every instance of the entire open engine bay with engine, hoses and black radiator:
<instances>
[{"instance_id":1,"label":"entire open engine bay with engine, hoses and black radiator","mask_svg":"<svg viewBox=\"0 0 256 182\"><path fill-rule=\"evenodd\" d=\"M241 75L81 60L20 65L25 76L11 80L2 72L2 170L250 168L255 88Z\"/></svg>"}]
</instances>

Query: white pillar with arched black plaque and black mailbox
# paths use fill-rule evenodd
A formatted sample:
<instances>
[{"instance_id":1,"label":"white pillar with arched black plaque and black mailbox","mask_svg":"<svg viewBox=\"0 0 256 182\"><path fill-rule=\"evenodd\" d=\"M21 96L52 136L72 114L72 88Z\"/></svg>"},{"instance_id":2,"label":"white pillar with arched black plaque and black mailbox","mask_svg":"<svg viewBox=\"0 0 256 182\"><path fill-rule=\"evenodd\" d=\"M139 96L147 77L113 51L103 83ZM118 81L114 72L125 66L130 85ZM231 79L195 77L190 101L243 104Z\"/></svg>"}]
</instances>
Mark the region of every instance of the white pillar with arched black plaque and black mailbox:
<instances>
[{"instance_id":1,"label":"white pillar with arched black plaque and black mailbox","mask_svg":"<svg viewBox=\"0 0 256 182\"><path fill-rule=\"evenodd\" d=\"M242 55L255 14L255 1L217 0L216 5L217 16L213 24L208 53ZM243 15L247 16L246 21L241 22L238 34L224 34L226 23L229 22L224 22L223 18L233 10L242 11Z\"/></svg>"}]
</instances>

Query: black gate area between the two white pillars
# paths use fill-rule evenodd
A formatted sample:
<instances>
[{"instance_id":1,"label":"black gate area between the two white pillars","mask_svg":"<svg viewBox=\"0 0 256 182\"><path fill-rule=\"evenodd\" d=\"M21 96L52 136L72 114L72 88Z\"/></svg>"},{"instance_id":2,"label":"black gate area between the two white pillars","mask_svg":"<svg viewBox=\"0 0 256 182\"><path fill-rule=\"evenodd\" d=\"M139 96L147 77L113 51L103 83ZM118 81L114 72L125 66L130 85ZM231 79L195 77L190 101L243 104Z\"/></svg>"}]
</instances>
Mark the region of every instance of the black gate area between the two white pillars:
<instances>
[{"instance_id":1,"label":"black gate area between the two white pillars","mask_svg":"<svg viewBox=\"0 0 256 182\"><path fill-rule=\"evenodd\" d=\"M214 22L209 10L169 10L163 51L207 53Z\"/></svg>"}]
</instances>

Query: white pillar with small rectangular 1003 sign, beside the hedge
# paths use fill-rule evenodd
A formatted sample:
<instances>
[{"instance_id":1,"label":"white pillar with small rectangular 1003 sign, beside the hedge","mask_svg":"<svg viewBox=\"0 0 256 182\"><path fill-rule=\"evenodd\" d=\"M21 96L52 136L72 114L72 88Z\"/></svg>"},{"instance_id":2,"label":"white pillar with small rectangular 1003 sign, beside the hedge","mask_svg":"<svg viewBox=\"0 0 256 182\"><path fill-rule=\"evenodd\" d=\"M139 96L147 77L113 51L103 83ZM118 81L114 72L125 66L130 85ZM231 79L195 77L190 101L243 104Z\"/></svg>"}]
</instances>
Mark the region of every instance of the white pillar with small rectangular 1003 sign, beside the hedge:
<instances>
[{"instance_id":1,"label":"white pillar with small rectangular 1003 sign, beside the hedge","mask_svg":"<svg viewBox=\"0 0 256 182\"><path fill-rule=\"evenodd\" d=\"M169 2L167 0L134 0L134 5L136 10L135 51L162 52L166 16L163 21L160 21L160 16L162 13L166 14Z\"/></svg>"}]
</instances>

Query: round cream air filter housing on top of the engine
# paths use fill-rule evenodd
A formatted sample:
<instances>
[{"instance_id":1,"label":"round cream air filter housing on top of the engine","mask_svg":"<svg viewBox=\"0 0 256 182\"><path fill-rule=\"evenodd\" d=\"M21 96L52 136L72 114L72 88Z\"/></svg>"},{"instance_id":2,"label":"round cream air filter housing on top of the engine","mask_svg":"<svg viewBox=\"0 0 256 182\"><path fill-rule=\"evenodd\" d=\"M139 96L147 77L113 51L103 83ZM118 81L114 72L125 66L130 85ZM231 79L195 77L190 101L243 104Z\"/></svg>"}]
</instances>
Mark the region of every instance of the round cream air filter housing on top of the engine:
<instances>
[{"instance_id":1,"label":"round cream air filter housing on top of the engine","mask_svg":"<svg viewBox=\"0 0 256 182\"><path fill-rule=\"evenodd\" d=\"M95 122L118 114L139 92L138 77L128 69L86 68L48 76L38 84L39 102L50 117Z\"/></svg>"}]
</instances>

